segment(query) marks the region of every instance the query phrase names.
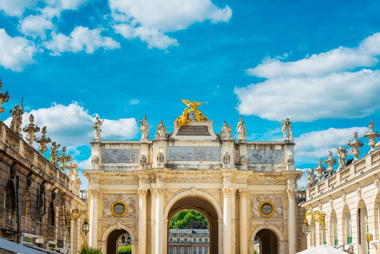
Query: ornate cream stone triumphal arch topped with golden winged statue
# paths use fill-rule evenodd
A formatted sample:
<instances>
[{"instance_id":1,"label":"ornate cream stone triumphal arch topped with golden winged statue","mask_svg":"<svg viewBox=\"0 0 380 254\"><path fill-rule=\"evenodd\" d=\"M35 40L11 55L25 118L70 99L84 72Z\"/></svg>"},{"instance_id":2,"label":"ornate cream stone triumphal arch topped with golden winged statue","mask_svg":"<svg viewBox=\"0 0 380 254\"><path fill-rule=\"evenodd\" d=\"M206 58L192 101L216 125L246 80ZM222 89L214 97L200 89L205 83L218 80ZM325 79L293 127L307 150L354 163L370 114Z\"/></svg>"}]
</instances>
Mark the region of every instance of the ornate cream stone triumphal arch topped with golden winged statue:
<instances>
[{"instance_id":1,"label":"ornate cream stone triumphal arch topped with golden winged statue","mask_svg":"<svg viewBox=\"0 0 380 254\"><path fill-rule=\"evenodd\" d=\"M183 209L201 212L210 225L210 253L296 252L296 188L291 123L284 141L247 141L240 117L237 137L223 123L188 106L167 132L162 121L149 139L140 121L140 141L104 141L99 119L91 142L89 244L116 253L124 234L132 253L168 253L168 225ZM193 253L193 252L191 252ZM196 252L198 253L198 252ZM190 252L189 252L190 254Z\"/></svg>"}]
</instances>

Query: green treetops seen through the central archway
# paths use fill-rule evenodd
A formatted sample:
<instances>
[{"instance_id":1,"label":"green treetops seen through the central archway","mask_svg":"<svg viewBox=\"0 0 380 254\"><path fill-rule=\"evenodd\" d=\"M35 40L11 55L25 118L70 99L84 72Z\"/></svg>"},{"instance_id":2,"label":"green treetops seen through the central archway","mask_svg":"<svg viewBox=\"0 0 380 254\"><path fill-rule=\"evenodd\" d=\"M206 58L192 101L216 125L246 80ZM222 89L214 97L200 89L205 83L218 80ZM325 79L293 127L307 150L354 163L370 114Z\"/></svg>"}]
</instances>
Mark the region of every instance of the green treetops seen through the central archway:
<instances>
[{"instance_id":1,"label":"green treetops seen through the central archway","mask_svg":"<svg viewBox=\"0 0 380 254\"><path fill-rule=\"evenodd\" d=\"M169 229L210 229L207 219L198 211L182 210L171 219Z\"/></svg>"}]
</instances>

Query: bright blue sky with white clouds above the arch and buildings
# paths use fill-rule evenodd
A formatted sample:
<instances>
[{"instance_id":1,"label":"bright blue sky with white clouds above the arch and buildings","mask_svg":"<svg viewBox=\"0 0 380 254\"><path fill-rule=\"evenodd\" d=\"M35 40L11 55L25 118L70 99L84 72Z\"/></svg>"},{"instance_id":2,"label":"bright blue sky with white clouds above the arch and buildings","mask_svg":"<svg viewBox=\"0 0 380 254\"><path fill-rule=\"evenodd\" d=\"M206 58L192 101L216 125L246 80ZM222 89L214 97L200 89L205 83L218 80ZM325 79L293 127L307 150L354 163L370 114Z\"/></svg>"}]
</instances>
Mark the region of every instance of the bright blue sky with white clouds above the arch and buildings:
<instances>
[{"instance_id":1,"label":"bright blue sky with white clouds above the arch and buildings","mask_svg":"<svg viewBox=\"0 0 380 254\"><path fill-rule=\"evenodd\" d=\"M23 97L22 126L32 113L82 170L96 115L103 140L138 140L144 115L152 138L181 99L209 102L216 132L243 115L253 141L281 140L289 117L300 170L356 131L363 155L369 121L380 130L378 13L378 1L3 0L0 118Z\"/></svg>"}]
</instances>

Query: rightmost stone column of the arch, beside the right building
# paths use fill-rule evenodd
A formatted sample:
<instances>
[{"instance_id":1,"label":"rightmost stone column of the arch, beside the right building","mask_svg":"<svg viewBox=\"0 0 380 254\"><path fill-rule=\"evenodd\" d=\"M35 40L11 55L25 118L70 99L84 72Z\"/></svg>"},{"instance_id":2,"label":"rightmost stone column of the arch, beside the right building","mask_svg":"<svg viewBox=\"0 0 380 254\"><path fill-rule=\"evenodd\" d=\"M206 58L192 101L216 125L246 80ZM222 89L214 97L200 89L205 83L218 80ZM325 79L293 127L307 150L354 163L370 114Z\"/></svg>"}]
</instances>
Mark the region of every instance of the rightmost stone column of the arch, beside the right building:
<instances>
[{"instance_id":1,"label":"rightmost stone column of the arch, beside the right building","mask_svg":"<svg viewBox=\"0 0 380 254\"><path fill-rule=\"evenodd\" d=\"M296 194L297 189L289 188L288 194L288 242L289 254L297 252Z\"/></svg>"}]
</instances>

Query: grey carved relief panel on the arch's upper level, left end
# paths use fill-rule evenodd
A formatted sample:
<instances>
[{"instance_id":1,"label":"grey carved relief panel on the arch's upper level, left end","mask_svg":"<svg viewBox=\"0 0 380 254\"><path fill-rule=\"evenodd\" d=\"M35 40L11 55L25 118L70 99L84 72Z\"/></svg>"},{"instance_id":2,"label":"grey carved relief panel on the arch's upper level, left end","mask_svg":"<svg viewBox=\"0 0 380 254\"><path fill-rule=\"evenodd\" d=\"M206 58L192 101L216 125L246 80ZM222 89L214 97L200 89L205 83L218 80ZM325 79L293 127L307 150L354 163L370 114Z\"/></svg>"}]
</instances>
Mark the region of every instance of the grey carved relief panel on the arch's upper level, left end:
<instances>
[{"instance_id":1,"label":"grey carved relief panel on the arch's upper level, left end","mask_svg":"<svg viewBox=\"0 0 380 254\"><path fill-rule=\"evenodd\" d=\"M138 163L139 149L101 149L101 163Z\"/></svg>"}]
</instances>

